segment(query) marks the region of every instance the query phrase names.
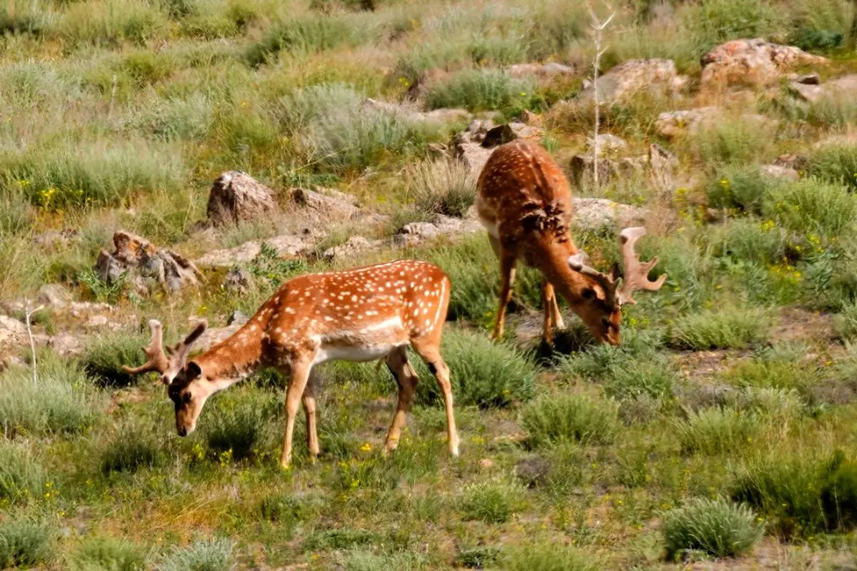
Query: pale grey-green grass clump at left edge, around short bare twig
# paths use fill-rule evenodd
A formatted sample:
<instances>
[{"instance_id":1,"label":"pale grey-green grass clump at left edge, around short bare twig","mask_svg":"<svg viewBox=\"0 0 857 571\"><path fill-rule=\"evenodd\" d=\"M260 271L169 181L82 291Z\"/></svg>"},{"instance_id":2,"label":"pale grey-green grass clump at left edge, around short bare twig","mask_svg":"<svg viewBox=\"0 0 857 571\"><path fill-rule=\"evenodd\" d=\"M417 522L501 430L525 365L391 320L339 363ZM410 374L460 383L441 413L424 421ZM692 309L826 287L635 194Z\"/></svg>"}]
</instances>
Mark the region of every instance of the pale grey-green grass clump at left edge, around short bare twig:
<instances>
[{"instance_id":1,"label":"pale grey-green grass clump at left edge, around short bare twig","mask_svg":"<svg viewBox=\"0 0 857 571\"><path fill-rule=\"evenodd\" d=\"M29 368L0 372L0 425L11 434L76 434L103 414L103 396L81 366L54 354L39 359L36 384Z\"/></svg>"}]
</instances>

